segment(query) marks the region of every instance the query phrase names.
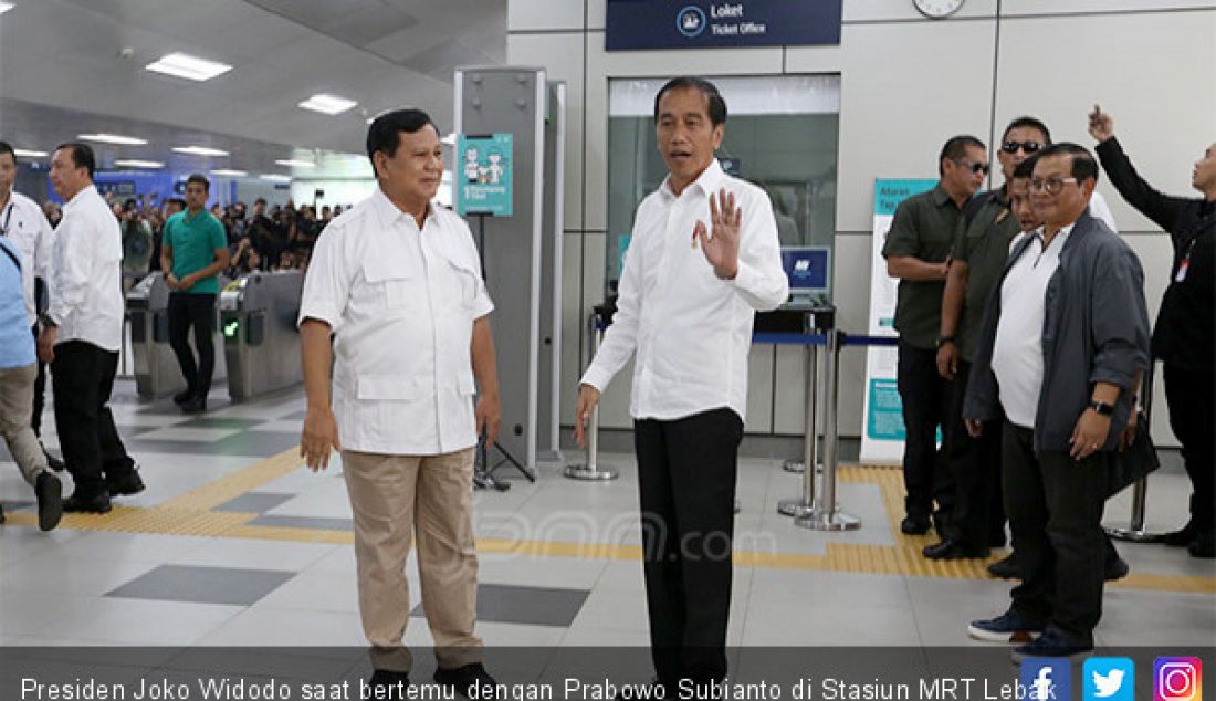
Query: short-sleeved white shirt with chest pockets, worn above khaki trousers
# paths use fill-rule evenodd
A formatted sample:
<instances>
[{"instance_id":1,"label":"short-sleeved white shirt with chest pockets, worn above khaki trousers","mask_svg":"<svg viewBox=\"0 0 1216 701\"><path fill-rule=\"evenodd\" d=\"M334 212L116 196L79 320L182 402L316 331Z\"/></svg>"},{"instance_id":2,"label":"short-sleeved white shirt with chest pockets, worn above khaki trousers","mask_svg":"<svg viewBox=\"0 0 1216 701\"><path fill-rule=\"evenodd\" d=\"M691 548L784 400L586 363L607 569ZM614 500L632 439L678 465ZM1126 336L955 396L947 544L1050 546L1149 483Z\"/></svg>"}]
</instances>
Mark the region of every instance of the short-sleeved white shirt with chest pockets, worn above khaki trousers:
<instances>
[{"instance_id":1,"label":"short-sleeved white shirt with chest pockets, worn above khaki trousers","mask_svg":"<svg viewBox=\"0 0 1216 701\"><path fill-rule=\"evenodd\" d=\"M299 323L334 333L344 449L439 455L477 444L473 321L494 309L468 224L432 206L420 230L378 187L317 239Z\"/></svg>"}]
</instances>

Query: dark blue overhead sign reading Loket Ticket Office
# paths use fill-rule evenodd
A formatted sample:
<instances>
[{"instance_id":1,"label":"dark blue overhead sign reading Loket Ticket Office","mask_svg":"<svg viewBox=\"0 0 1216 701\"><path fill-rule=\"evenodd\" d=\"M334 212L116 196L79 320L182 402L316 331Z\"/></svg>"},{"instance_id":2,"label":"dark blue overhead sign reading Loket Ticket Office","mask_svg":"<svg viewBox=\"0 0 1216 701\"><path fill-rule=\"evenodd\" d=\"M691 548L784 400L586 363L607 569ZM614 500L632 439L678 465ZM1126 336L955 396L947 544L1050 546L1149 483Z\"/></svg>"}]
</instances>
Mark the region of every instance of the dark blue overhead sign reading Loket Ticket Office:
<instances>
[{"instance_id":1,"label":"dark blue overhead sign reading Loket Ticket Office","mask_svg":"<svg viewBox=\"0 0 1216 701\"><path fill-rule=\"evenodd\" d=\"M841 0L608 0L604 46L706 49L840 43Z\"/></svg>"}]
</instances>

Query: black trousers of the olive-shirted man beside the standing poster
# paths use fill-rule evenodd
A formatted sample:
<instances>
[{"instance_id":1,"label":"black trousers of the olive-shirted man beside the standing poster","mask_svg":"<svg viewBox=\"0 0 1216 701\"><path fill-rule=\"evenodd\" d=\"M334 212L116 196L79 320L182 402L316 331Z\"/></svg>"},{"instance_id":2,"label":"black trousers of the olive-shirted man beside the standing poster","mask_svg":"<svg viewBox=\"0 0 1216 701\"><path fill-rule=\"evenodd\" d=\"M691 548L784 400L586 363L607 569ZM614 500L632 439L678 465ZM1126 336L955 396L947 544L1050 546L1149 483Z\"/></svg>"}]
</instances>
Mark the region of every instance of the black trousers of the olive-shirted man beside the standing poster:
<instances>
[{"instance_id":1,"label":"black trousers of the olive-shirted man beside the standing poster","mask_svg":"<svg viewBox=\"0 0 1216 701\"><path fill-rule=\"evenodd\" d=\"M900 340L897 380L903 403L903 487L905 511L913 518L929 518L934 501L947 516L955 506L955 484L945 456L938 450L938 428L948 442L951 383L938 374L938 352L917 348ZM947 445L942 445L947 449Z\"/></svg>"}]
</instances>

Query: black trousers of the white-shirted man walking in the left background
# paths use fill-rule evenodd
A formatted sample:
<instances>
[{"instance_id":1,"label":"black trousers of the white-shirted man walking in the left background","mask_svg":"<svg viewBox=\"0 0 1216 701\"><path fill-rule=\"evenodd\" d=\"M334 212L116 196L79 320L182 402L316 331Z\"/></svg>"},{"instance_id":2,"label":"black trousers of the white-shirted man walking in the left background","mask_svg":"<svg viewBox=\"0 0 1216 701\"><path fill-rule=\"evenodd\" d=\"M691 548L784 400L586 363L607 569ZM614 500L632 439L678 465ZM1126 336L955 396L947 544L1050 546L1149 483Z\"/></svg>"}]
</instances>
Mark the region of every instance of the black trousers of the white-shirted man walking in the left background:
<instances>
[{"instance_id":1,"label":"black trousers of the white-shirted man walking in the left background","mask_svg":"<svg viewBox=\"0 0 1216 701\"><path fill-rule=\"evenodd\" d=\"M55 425L63 461L84 497L105 490L106 476L123 478L135 466L108 406L117 371L118 353L84 341L55 347Z\"/></svg>"}]
</instances>

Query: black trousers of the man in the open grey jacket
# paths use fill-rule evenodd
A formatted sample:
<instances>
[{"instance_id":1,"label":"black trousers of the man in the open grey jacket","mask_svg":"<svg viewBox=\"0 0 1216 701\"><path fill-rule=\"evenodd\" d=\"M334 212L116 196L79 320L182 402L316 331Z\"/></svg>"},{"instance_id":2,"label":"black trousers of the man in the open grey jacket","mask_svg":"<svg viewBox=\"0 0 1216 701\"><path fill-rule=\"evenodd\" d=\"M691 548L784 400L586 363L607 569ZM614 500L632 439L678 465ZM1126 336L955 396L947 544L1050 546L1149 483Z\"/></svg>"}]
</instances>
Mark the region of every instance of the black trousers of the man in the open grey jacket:
<instances>
[{"instance_id":1,"label":"black trousers of the man in the open grey jacket","mask_svg":"<svg viewBox=\"0 0 1216 701\"><path fill-rule=\"evenodd\" d=\"M1002 432L1004 509L1021 574L1012 609L1077 645L1093 644L1102 618L1108 459L1035 453L1029 428L1006 422Z\"/></svg>"}]
</instances>

